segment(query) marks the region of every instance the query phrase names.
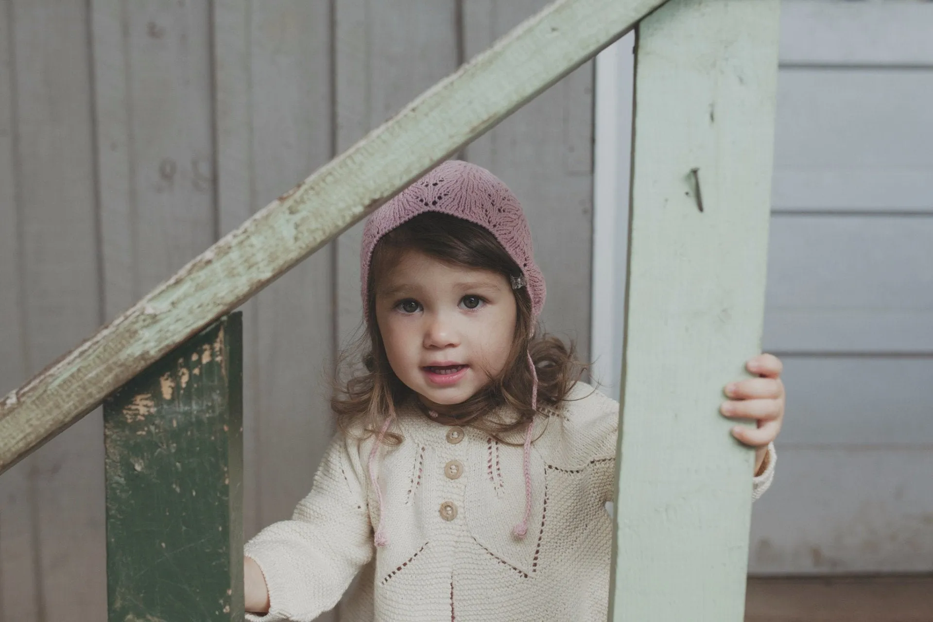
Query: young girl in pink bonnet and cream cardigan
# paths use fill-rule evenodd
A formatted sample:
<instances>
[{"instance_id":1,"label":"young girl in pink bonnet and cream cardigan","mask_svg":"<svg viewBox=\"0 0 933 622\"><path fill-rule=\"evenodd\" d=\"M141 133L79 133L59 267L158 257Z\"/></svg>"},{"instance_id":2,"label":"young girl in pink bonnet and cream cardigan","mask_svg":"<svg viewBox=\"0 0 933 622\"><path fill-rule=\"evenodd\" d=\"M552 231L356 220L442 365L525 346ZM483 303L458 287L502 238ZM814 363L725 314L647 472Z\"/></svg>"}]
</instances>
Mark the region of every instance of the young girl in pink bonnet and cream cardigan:
<instances>
[{"instance_id":1,"label":"young girl in pink bonnet and cream cardigan","mask_svg":"<svg viewBox=\"0 0 933 622\"><path fill-rule=\"evenodd\" d=\"M247 543L248 620L605 620L619 405L538 337L545 286L519 201L448 161L369 217L365 369L291 520ZM727 387L723 414L773 477L780 362ZM754 398L754 399L748 399Z\"/></svg>"}]
</instances>

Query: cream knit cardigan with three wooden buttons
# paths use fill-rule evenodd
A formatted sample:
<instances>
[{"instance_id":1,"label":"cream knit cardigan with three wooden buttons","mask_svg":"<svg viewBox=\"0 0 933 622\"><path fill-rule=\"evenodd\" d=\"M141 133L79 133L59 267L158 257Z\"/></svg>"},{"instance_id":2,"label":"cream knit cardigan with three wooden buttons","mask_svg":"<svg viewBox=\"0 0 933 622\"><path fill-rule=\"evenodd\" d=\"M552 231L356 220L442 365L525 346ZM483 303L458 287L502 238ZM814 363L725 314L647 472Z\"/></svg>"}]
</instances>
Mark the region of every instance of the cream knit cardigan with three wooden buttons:
<instances>
[{"instance_id":1,"label":"cream knit cardigan with three wooden buttons","mask_svg":"<svg viewBox=\"0 0 933 622\"><path fill-rule=\"evenodd\" d=\"M267 615L246 619L310 622L358 574L341 622L605 620L619 404L579 382L561 408L540 410L523 540L511 533L525 505L521 435L510 447L402 408L393 429L404 441L375 460L388 537L379 549L374 441L336 437L292 519L246 544L271 602ZM774 463L771 447L753 498Z\"/></svg>"}]
</instances>

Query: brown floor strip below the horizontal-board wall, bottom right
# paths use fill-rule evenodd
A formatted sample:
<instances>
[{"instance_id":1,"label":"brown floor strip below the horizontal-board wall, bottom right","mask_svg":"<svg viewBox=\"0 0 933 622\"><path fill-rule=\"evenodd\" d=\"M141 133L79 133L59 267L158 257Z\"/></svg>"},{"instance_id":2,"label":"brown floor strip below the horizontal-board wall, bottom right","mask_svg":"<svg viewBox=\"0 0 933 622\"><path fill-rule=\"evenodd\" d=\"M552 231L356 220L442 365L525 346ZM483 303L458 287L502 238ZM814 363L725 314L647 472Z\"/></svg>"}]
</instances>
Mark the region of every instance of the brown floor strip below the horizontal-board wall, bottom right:
<instances>
[{"instance_id":1,"label":"brown floor strip below the horizontal-board wall, bottom right","mask_svg":"<svg viewBox=\"0 0 933 622\"><path fill-rule=\"evenodd\" d=\"M745 622L933 622L933 574L752 578Z\"/></svg>"}]
</instances>

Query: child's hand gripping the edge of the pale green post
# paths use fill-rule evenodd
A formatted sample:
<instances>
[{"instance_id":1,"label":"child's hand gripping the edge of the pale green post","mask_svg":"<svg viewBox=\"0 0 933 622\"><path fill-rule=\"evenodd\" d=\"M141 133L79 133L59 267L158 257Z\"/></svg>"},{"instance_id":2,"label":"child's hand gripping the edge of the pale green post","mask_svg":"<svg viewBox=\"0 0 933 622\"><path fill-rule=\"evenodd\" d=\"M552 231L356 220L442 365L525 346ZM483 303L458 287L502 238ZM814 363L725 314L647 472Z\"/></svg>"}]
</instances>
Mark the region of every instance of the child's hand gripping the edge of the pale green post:
<instances>
[{"instance_id":1,"label":"child's hand gripping the edge of the pale green post","mask_svg":"<svg viewBox=\"0 0 933 622\"><path fill-rule=\"evenodd\" d=\"M773 354L759 354L748 359L745 367L759 378L737 380L726 385L725 394L731 397L723 402L719 411L731 419L754 419L757 428L736 425L732 435L749 447L755 448L755 473L768 455L768 444L777 438L784 422L784 365Z\"/></svg>"}]
</instances>

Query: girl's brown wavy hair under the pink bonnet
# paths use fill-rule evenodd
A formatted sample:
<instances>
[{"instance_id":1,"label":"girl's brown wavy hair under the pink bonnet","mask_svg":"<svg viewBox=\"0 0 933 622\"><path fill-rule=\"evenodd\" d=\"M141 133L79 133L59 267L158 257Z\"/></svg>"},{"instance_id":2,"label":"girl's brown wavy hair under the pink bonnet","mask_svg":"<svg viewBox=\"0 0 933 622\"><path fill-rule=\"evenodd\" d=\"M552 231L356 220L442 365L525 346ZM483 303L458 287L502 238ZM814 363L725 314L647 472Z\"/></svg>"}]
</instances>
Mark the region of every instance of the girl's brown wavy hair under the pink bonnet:
<instances>
[{"instance_id":1,"label":"girl's brown wavy hair under the pink bonnet","mask_svg":"<svg viewBox=\"0 0 933 622\"><path fill-rule=\"evenodd\" d=\"M344 434L362 429L364 437L377 433L387 417L394 416L397 406L414 396L414 392L398 380L385 354L383 336L376 323L375 283L386 270L391 270L406 250L415 249L439 260L480 270L492 270L509 276L520 276L522 270L496 241L494 235L479 225L449 214L428 212L419 214L386 233L376 244L369 268L366 301L369 323L355 344L341 354L338 369L347 369L349 379L336 381L330 406ZM526 352L531 354L536 368L537 405L556 407L566 398L581 378L586 365L577 360L571 341L549 335L532 335L534 318L527 287L512 290L516 302L515 332L508 360L502 371L491 378L479 392L450 408L442 422L456 422L479 429L502 441L501 435L518 430L536 415L531 407L532 376ZM361 361L359 365L350 365ZM421 402L418 408L425 410ZM512 421L492 420L487 415L501 406L516 413ZM362 425L360 425L362 423ZM357 434L359 434L357 432ZM397 444L401 436L386 434L386 441ZM502 441L506 442L506 441Z\"/></svg>"}]
</instances>

